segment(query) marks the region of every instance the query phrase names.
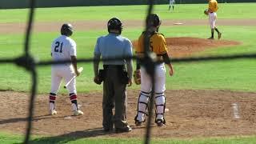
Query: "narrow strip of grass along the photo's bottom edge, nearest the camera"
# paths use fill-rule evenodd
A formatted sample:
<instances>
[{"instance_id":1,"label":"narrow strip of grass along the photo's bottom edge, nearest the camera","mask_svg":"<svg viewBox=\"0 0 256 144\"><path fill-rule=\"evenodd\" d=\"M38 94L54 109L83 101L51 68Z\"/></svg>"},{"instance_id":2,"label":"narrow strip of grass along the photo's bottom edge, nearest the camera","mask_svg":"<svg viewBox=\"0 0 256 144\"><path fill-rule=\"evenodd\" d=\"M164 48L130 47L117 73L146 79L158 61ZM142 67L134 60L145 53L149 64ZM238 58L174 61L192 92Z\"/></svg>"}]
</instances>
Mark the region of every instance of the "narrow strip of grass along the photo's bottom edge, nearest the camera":
<instances>
[{"instance_id":1,"label":"narrow strip of grass along the photo's bottom edge, nearest the camera","mask_svg":"<svg viewBox=\"0 0 256 144\"><path fill-rule=\"evenodd\" d=\"M253 144L256 141L255 136L242 136L230 138L150 138L150 143L153 144ZM22 143L23 137L21 135L12 135L0 133L0 143L13 144ZM33 136L30 140L32 144L51 144L51 143L70 143L70 144L108 144L108 143L144 143L143 138L83 138L70 136L57 137L38 137Z\"/></svg>"}]
</instances>

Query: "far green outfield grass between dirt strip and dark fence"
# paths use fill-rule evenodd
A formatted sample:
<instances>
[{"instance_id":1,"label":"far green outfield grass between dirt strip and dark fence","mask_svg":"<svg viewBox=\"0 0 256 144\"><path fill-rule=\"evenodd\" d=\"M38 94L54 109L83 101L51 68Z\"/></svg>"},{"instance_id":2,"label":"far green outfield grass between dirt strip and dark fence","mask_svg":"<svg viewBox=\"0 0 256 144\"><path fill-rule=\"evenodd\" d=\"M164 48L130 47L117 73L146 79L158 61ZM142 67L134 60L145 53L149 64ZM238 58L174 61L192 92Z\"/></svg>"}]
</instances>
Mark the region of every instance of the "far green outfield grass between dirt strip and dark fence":
<instances>
[{"instance_id":1,"label":"far green outfield grass between dirt strip and dark fence","mask_svg":"<svg viewBox=\"0 0 256 144\"><path fill-rule=\"evenodd\" d=\"M162 19L202 19L205 15L205 4L180 4L175 11L168 11L169 5L155 5L154 12ZM220 3L218 18L256 18L256 3ZM246 7L246 8L245 8ZM71 22L83 20L103 20L113 16L125 19L142 19L146 16L144 6L86 6L70 8L39 8L35 10L37 22ZM28 9L0 10L0 22L26 22Z\"/></svg>"}]
</instances>

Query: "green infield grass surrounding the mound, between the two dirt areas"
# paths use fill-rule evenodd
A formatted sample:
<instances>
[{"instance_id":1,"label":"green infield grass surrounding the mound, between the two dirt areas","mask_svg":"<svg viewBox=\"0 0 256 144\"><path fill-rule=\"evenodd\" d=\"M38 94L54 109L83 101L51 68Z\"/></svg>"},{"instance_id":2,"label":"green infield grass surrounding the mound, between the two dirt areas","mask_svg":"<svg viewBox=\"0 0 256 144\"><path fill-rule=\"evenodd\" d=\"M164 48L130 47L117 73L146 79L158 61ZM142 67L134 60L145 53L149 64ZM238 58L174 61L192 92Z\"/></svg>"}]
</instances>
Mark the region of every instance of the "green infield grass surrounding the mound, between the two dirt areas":
<instances>
[{"instance_id":1,"label":"green infield grass surrounding the mound, between the two dirt areas","mask_svg":"<svg viewBox=\"0 0 256 144\"><path fill-rule=\"evenodd\" d=\"M223 38L242 42L241 46L222 47L213 50L206 50L197 55L230 55L230 54L250 54L256 53L254 38L256 37L255 26L221 26ZM209 29L207 26L162 26L161 32L166 37L198 37L207 38ZM128 29L123 31L123 35L136 40L141 34L141 29ZM188 33L189 32L189 33ZM94 52L94 45L99 35L106 34L106 30L78 31L74 34L74 39L78 44L78 58L91 58ZM239 35L238 35L239 34ZM31 53L38 60L50 60L50 42L58 36L56 33L36 33L32 37ZM16 42L11 43L15 38ZM0 57L17 57L22 54L22 34L8 34L2 36L0 46L7 46L0 53ZM6 43L5 43L6 42ZM15 50L15 53L13 52ZM254 85L255 77L252 60L234 60L225 62L194 62L194 63L174 63L174 77L166 77L166 88L168 90L177 89L214 89L214 90L238 90L256 91ZM84 71L77 80L78 92L89 92L90 90L102 90L102 86L95 85L93 79L92 64L79 63ZM1 90L30 90L30 75L22 68L10 65L0 65ZM168 70L168 68L167 68ZM11 72L10 72L11 71ZM22 75L22 76L21 76ZM138 86L132 86L138 89ZM47 93L50 90L50 66L38 68L38 92ZM66 93L63 88L60 93Z\"/></svg>"}]
</instances>

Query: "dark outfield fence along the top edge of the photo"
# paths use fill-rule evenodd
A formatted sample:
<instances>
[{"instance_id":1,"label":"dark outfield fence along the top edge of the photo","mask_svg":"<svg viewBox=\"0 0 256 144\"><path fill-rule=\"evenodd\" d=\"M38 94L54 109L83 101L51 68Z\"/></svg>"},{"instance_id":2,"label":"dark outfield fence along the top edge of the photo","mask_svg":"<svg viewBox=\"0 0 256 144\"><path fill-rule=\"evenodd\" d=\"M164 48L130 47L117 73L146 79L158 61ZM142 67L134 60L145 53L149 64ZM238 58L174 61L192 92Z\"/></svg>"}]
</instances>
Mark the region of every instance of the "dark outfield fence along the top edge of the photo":
<instances>
[{"instance_id":1,"label":"dark outfield fence along the top edge of the photo","mask_svg":"<svg viewBox=\"0 0 256 144\"><path fill-rule=\"evenodd\" d=\"M30 0L1 0L0 9L28 8ZM206 3L207 0L176 0L176 3ZM255 0L218 0L218 2L256 2ZM169 0L157 0L154 4L168 4ZM38 0L36 7L65 7L65 6L121 6L146 5L145 0Z\"/></svg>"}]
</instances>

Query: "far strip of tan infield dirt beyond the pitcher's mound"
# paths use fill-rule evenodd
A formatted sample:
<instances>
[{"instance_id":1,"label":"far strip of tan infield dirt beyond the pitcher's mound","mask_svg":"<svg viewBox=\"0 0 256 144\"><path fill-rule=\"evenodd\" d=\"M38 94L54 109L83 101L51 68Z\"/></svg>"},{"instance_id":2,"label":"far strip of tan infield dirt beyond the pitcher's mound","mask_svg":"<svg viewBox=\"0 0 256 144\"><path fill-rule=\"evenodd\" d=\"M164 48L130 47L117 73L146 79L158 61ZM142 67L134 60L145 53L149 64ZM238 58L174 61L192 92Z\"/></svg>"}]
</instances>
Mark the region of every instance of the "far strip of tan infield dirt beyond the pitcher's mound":
<instances>
[{"instance_id":1,"label":"far strip of tan infield dirt beyond the pitcher's mound","mask_svg":"<svg viewBox=\"0 0 256 144\"><path fill-rule=\"evenodd\" d=\"M122 21L124 29L133 27L144 27L142 20L124 20ZM34 32L57 32L60 30L63 22L34 22ZM76 21L70 22L74 25L74 30L106 30L105 21ZM182 25L176 25L180 23ZM255 26L256 19L218 19L219 26ZM208 19L190 19L190 20L163 20L162 26L209 26ZM19 34L26 31L26 23L9 22L0 23L0 34Z\"/></svg>"}]
</instances>

